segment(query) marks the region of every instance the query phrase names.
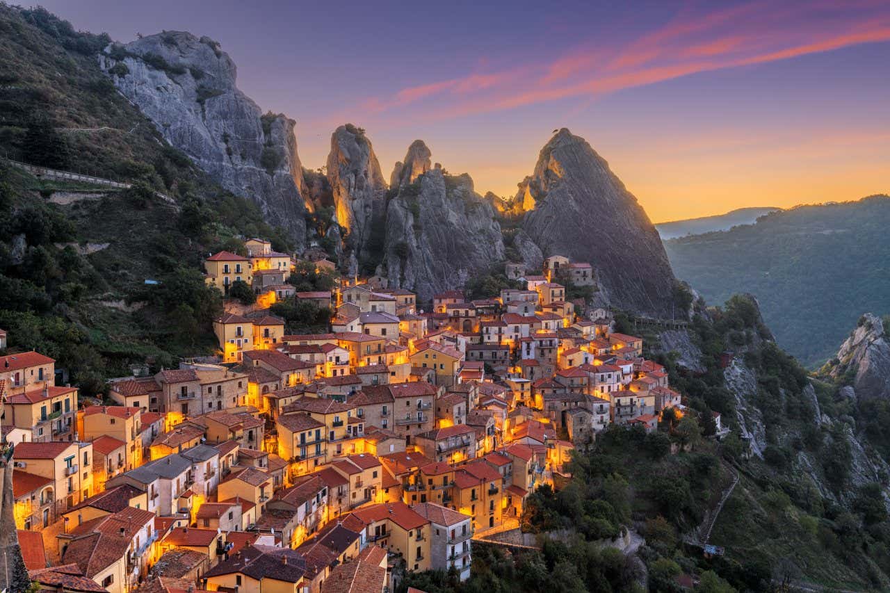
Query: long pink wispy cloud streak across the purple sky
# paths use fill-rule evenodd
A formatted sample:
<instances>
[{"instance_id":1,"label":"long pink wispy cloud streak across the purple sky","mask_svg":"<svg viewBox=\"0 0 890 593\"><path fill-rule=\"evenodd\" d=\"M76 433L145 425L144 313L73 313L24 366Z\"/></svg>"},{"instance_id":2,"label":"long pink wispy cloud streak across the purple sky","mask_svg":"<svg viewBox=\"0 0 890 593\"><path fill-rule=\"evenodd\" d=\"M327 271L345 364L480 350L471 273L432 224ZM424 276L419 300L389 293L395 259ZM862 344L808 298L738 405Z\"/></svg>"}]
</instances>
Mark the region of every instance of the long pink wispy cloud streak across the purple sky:
<instances>
[{"instance_id":1,"label":"long pink wispy cloud streak across the purple sky","mask_svg":"<svg viewBox=\"0 0 890 593\"><path fill-rule=\"evenodd\" d=\"M716 69L787 60L890 40L890 4L756 1L719 10L687 8L626 42L574 40L546 61L474 71L369 97L380 118L409 110L452 118L651 85Z\"/></svg>"}]
</instances>

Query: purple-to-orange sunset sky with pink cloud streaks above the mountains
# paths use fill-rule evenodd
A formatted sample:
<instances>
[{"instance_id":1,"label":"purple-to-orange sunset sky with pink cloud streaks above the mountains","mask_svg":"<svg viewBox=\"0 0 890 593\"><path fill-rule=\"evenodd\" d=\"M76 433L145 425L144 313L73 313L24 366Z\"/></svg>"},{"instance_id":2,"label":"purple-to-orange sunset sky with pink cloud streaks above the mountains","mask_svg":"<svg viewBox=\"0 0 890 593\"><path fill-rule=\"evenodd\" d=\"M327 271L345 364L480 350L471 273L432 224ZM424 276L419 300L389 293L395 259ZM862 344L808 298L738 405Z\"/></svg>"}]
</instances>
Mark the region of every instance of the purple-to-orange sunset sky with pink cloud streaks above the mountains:
<instances>
[{"instance_id":1,"label":"purple-to-orange sunset sky with pink cloud streaks above the mountains","mask_svg":"<svg viewBox=\"0 0 890 593\"><path fill-rule=\"evenodd\" d=\"M213 37L305 167L365 127L384 175L433 159L512 195L554 128L653 221L890 192L890 2L44 0L75 27Z\"/></svg>"}]
</instances>

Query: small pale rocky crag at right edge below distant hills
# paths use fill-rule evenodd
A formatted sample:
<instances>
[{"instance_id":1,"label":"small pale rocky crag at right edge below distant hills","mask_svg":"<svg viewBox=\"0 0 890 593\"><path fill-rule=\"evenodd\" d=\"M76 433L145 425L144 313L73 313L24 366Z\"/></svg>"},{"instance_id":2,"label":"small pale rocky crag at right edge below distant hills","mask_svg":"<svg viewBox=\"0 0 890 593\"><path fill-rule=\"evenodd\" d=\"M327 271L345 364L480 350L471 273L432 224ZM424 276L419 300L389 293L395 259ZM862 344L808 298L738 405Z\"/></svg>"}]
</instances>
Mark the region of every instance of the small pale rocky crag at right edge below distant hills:
<instances>
[{"instance_id":1,"label":"small pale rocky crag at right edge below distant hills","mask_svg":"<svg viewBox=\"0 0 890 593\"><path fill-rule=\"evenodd\" d=\"M833 378L852 379L856 397L890 398L890 344L881 318L862 315L859 325L837 351Z\"/></svg>"}]
</instances>

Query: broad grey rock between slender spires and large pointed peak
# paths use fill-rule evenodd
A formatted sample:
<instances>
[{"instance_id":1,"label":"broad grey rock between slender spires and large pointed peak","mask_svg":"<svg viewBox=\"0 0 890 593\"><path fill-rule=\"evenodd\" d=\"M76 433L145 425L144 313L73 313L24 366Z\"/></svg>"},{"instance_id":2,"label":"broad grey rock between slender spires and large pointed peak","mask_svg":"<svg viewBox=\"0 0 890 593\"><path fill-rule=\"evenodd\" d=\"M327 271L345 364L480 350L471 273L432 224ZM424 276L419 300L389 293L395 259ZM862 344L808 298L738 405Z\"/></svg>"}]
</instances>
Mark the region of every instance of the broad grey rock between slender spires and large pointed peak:
<instances>
[{"instance_id":1,"label":"broad grey rock between slender spires and large pointed peak","mask_svg":"<svg viewBox=\"0 0 890 593\"><path fill-rule=\"evenodd\" d=\"M464 286L503 259L504 241L494 210L473 191L469 175L445 175L433 168L390 201L387 276L390 286L415 290L419 302Z\"/></svg>"}]
</instances>

